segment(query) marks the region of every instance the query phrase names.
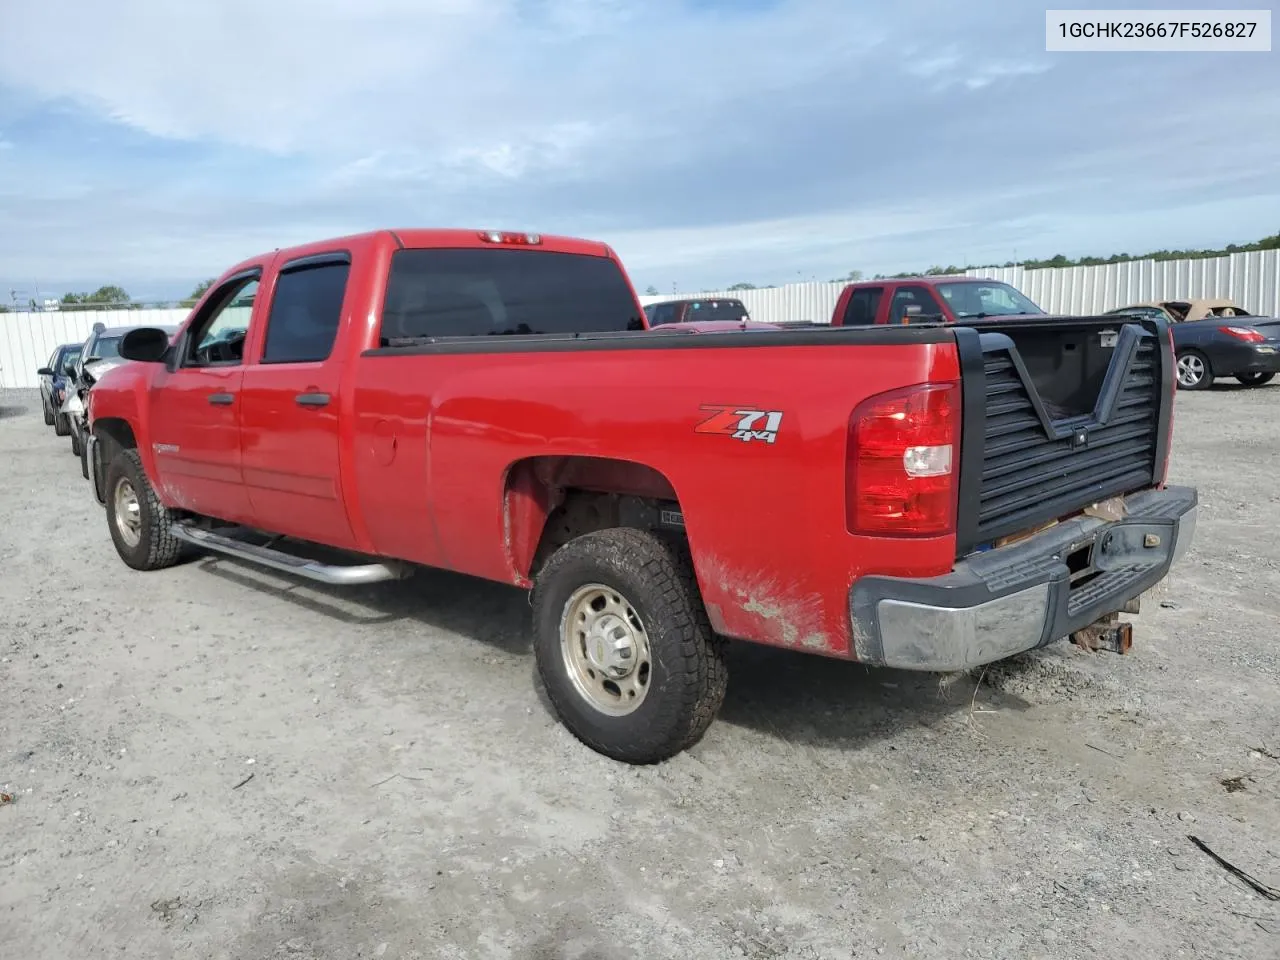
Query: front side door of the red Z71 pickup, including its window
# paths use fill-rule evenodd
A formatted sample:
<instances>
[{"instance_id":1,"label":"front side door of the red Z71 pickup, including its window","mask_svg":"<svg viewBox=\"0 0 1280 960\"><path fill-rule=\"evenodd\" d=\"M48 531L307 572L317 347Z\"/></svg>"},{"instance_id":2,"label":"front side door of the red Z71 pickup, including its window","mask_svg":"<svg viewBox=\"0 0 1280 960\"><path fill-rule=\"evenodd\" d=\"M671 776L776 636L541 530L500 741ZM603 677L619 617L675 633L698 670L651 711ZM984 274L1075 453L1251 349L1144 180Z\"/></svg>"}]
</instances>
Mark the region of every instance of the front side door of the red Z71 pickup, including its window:
<instances>
[{"instance_id":1,"label":"front side door of the red Z71 pickup, including its window","mask_svg":"<svg viewBox=\"0 0 1280 960\"><path fill-rule=\"evenodd\" d=\"M251 518L241 471L244 339L261 268L228 278L179 335L173 364L147 394L156 477L184 509L238 524Z\"/></svg>"}]
</instances>

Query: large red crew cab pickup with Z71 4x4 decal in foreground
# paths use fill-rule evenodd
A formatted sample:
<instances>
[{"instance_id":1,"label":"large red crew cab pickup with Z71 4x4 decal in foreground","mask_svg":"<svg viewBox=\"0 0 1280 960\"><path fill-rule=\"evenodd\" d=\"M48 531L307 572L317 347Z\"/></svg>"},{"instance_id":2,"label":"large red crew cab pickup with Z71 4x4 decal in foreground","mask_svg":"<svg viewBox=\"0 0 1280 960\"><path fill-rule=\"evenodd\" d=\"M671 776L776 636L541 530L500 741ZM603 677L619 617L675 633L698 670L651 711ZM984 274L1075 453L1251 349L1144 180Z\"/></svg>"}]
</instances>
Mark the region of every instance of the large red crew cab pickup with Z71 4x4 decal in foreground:
<instances>
[{"instance_id":1,"label":"large red crew cab pickup with Z71 4x4 decal in foreground","mask_svg":"<svg viewBox=\"0 0 1280 960\"><path fill-rule=\"evenodd\" d=\"M726 637L964 669L1119 631L1190 543L1160 320L1111 317L1106 342L1097 320L643 317L585 241L383 230L252 257L172 343L127 335L134 362L90 393L93 490L137 570L214 552L531 589L558 716L631 763L701 736Z\"/></svg>"}]
</instances>

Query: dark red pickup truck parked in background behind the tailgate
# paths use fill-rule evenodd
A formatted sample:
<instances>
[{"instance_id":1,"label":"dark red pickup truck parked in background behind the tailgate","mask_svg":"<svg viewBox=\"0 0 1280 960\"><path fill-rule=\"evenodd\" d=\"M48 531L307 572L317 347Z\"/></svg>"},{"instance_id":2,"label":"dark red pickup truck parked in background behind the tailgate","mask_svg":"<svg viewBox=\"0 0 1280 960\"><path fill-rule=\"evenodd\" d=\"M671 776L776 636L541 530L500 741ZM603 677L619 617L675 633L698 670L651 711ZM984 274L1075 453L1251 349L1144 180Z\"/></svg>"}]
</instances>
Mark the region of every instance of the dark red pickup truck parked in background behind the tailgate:
<instances>
[{"instance_id":1,"label":"dark red pickup truck parked in background behind the tailgate","mask_svg":"<svg viewBox=\"0 0 1280 960\"><path fill-rule=\"evenodd\" d=\"M977 276L911 276L859 280L845 287L832 326L959 324L1002 316L1044 316L1016 287Z\"/></svg>"}]
</instances>

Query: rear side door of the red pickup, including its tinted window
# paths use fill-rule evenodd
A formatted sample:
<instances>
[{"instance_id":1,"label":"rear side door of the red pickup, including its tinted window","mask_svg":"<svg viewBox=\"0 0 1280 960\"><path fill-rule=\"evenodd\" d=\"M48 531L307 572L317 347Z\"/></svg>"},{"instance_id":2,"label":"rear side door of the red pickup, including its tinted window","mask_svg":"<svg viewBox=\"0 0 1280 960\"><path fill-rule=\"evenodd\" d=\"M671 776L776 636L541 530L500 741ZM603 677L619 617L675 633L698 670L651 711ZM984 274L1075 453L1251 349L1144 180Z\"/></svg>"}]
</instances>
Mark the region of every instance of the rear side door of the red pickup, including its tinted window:
<instances>
[{"instance_id":1,"label":"rear side door of the red pickup, including its tinted window","mask_svg":"<svg viewBox=\"0 0 1280 960\"><path fill-rule=\"evenodd\" d=\"M285 262L275 276L257 362L244 370L244 485L259 526L353 548L342 499L339 389L351 256Z\"/></svg>"}]
</instances>

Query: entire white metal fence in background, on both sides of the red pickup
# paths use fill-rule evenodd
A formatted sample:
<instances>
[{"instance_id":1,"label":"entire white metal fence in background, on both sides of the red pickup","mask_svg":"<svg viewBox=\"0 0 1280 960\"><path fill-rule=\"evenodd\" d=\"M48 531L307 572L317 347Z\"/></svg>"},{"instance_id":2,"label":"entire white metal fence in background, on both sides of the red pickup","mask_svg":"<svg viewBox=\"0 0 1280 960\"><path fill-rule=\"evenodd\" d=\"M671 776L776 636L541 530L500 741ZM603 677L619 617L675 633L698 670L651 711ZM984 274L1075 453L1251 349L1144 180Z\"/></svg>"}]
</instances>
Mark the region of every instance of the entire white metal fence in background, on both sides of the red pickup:
<instances>
[{"instance_id":1,"label":"entire white metal fence in background, on both sides of the red pickup","mask_svg":"<svg viewBox=\"0 0 1280 960\"><path fill-rule=\"evenodd\" d=\"M1280 250L1231 253L1211 260L1133 260L1102 266L969 270L1018 287L1051 314L1101 314L1147 300L1229 297L1254 314L1280 316ZM753 291L698 296L737 297L755 320L826 323L842 283L791 283ZM641 297L645 305L690 294ZM83 342L101 320L108 326L179 324L187 310L82 310L0 314L0 387L35 387L36 370L59 343Z\"/></svg>"}]
</instances>

